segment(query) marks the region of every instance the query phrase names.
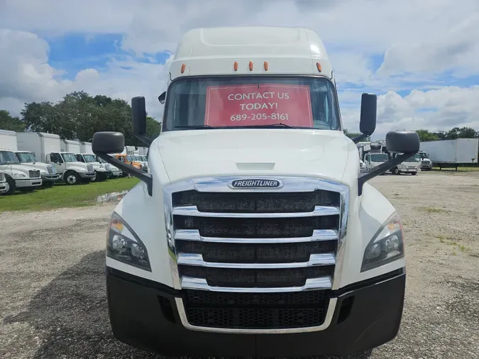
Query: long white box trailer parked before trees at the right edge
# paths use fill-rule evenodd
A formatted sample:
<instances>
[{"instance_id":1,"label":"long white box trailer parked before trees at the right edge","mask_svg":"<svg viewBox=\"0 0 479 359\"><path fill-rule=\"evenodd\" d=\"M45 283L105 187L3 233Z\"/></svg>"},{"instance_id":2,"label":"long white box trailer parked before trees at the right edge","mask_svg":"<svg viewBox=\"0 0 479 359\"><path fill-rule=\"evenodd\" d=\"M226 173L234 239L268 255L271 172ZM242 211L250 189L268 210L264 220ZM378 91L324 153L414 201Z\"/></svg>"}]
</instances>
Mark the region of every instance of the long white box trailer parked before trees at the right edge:
<instances>
[{"instance_id":1,"label":"long white box trailer parked before trees at the right edge","mask_svg":"<svg viewBox=\"0 0 479 359\"><path fill-rule=\"evenodd\" d=\"M457 138L456 140L437 140L421 143L421 151L433 165L456 167L478 163L479 138Z\"/></svg>"}]
</instances>

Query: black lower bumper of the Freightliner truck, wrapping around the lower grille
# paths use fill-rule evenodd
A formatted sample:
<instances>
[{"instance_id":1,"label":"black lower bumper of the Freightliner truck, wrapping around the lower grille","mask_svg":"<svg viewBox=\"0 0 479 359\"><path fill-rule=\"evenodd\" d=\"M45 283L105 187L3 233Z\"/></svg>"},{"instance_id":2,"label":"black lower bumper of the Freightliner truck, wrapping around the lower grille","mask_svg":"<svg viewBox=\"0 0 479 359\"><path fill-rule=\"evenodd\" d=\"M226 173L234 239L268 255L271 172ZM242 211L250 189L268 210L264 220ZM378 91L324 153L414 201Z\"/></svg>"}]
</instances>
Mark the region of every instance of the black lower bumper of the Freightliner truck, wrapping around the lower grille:
<instances>
[{"instance_id":1,"label":"black lower bumper of the Freightliner truck, wrapping around the lower grille","mask_svg":"<svg viewBox=\"0 0 479 359\"><path fill-rule=\"evenodd\" d=\"M398 270L332 294L337 304L323 331L232 334L192 331L181 324L181 291L107 268L114 336L163 355L298 357L349 355L392 340L400 327L406 274Z\"/></svg>"}]
</instances>

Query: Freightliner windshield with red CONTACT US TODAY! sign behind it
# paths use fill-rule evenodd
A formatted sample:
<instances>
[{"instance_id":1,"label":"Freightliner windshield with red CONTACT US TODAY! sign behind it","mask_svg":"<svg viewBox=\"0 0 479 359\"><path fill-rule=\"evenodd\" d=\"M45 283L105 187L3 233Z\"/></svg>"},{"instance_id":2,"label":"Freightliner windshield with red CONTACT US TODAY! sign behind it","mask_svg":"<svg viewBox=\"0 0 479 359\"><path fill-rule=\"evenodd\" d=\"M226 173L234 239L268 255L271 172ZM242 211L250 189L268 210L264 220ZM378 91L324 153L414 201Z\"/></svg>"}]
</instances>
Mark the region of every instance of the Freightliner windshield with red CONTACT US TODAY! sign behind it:
<instances>
[{"instance_id":1,"label":"Freightliner windshield with red CONTACT US TODAY! sign behind it","mask_svg":"<svg viewBox=\"0 0 479 359\"><path fill-rule=\"evenodd\" d=\"M163 131L211 128L339 130L334 85L321 77L189 77L167 92Z\"/></svg>"}]
</instances>

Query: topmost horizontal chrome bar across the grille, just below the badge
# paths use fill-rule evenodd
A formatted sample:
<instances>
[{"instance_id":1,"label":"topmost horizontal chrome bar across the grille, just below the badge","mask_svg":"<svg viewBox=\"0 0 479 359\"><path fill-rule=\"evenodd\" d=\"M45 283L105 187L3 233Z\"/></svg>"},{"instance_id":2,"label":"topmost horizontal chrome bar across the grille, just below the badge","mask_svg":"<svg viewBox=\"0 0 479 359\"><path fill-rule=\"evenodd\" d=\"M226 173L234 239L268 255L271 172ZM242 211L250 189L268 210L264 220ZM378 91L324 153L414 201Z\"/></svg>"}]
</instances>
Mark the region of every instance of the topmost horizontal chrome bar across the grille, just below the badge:
<instances>
[{"instance_id":1,"label":"topmost horizontal chrome bar across the grille, just below the badge","mask_svg":"<svg viewBox=\"0 0 479 359\"><path fill-rule=\"evenodd\" d=\"M315 206L312 212L272 212L272 213L227 213L227 212L200 212L197 206L181 206L173 208L173 215L177 216L199 216L215 218L297 218L316 216L335 216L339 214L338 207Z\"/></svg>"}]
</instances>

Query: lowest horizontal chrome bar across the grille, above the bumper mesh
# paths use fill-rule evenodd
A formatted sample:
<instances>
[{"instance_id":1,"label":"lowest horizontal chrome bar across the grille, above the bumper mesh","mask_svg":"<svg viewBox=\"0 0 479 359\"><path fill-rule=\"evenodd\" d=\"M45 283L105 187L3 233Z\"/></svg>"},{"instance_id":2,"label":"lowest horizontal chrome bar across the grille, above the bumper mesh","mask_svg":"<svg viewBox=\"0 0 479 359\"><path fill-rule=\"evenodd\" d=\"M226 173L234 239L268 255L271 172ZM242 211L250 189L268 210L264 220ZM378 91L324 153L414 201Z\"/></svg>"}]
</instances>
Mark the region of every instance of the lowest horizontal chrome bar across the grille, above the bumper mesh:
<instances>
[{"instance_id":1,"label":"lowest horizontal chrome bar across the grille, above the bumper mesh","mask_svg":"<svg viewBox=\"0 0 479 359\"><path fill-rule=\"evenodd\" d=\"M214 287L208 285L204 278L182 277L184 289L199 289L210 292L233 292L233 293L285 293L302 292L305 290L331 289L331 277L307 279L302 287Z\"/></svg>"}]
</instances>

